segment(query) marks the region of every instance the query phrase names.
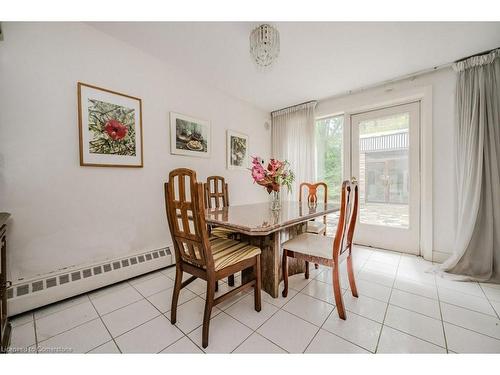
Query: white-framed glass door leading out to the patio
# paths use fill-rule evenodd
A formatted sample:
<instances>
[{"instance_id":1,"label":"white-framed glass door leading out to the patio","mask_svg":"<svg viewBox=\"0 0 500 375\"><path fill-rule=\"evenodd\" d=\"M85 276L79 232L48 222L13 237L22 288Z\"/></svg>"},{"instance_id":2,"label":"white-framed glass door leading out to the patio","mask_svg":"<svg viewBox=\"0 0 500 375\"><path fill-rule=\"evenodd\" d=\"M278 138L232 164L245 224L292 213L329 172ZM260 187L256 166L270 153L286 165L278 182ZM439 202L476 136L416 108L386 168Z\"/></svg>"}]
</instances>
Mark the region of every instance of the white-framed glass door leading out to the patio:
<instances>
[{"instance_id":1,"label":"white-framed glass door leading out to the patio","mask_svg":"<svg viewBox=\"0 0 500 375\"><path fill-rule=\"evenodd\" d=\"M419 251L419 103L351 116L351 169L358 179L355 242Z\"/></svg>"}]
</instances>

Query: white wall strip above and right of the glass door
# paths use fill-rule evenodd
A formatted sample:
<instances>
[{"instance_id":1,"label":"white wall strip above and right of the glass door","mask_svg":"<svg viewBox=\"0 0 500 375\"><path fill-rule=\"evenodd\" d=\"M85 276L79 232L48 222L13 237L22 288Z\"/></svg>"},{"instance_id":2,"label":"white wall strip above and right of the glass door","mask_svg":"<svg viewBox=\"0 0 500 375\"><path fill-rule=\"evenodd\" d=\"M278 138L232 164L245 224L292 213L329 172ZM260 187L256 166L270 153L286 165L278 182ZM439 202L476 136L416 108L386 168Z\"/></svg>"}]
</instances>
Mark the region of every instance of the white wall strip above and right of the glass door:
<instances>
[{"instance_id":1,"label":"white wall strip above and right of the glass door","mask_svg":"<svg viewBox=\"0 0 500 375\"><path fill-rule=\"evenodd\" d=\"M451 68L322 100L316 107L316 115L326 116L377 105L426 86L432 86L433 258L443 260L453 250L456 216L453 155L455 74Z\"/></svg>"}]
</instances>

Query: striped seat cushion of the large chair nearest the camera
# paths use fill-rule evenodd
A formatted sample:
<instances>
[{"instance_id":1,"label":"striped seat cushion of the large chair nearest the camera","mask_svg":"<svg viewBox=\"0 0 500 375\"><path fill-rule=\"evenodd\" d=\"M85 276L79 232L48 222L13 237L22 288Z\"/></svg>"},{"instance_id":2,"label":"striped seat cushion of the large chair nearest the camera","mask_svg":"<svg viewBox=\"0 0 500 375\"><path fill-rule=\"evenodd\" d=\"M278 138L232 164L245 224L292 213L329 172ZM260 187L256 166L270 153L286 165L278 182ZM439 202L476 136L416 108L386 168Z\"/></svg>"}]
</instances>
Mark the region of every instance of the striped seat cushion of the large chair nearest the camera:
<instances>
[{"instance_id":1,"label":"striped seat cushion of the large chair nearest the camera","mask_svg":"<svg viewBox=\"0 0 500 375\"><path fill-rule=\"evenodd\" d=\"M210 237L210 246L216 271L261 253L261 250L256 246L228 238Z\"/></svg>"}]
</instances>

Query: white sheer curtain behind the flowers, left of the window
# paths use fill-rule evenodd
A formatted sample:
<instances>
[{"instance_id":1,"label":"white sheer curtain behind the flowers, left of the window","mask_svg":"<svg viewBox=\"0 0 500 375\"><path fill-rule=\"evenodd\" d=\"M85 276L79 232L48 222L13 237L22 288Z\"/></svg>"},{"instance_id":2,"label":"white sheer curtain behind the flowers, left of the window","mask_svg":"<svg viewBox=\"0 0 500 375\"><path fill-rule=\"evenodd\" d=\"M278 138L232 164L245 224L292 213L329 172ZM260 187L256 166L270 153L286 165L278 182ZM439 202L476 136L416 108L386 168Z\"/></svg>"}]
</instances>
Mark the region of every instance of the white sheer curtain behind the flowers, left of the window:
<instances>
[{"instance_id":1,"label":"white sheer curtain behind the flowers, left of the window","mask_svg":"<svg viewBox=\"0 0 500 375\"><path fill-rule=\"evenodd\" d=\"M272 113L272 156L288 160L295 173L290 195L285 200L298 199L301 182L314 181L314 108L308 102Z\"/></svg>"}]
</instances>

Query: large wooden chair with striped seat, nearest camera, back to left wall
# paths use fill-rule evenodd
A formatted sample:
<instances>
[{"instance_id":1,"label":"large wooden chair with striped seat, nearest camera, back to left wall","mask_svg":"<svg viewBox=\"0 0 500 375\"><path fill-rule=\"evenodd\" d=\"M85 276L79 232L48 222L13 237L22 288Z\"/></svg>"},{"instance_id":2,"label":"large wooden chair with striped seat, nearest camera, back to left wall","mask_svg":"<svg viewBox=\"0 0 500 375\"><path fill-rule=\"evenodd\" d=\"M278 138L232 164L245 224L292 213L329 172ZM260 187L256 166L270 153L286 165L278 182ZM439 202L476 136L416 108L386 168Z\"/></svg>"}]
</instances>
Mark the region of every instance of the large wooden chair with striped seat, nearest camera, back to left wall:
<instances>
[{"instance_id":1,"label":"large wooden chair with striped seat, nearest camera, back to left wall","mask_svg":"<svg viewBox=\"0 0 500 375\"><path fill-rule=\"evenodd\" d=\"M175 286L170 322L177 321L177 303L182 288L197 278L207 282L203 315L202 346L208 346L210 315L215 305L248 288L254 288L254 308L261 310L261 249L228 238L209 237L205 221L203 185L197 183L196 172L175 169L165 183L165 205L168 226L175 250ZM235 272L253 268L253 278L215 298L217 280ZM183 273L192 275L182 281Z\"/></svg>"}]
</instances>

